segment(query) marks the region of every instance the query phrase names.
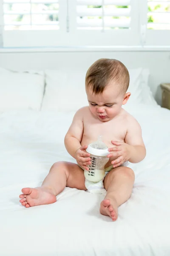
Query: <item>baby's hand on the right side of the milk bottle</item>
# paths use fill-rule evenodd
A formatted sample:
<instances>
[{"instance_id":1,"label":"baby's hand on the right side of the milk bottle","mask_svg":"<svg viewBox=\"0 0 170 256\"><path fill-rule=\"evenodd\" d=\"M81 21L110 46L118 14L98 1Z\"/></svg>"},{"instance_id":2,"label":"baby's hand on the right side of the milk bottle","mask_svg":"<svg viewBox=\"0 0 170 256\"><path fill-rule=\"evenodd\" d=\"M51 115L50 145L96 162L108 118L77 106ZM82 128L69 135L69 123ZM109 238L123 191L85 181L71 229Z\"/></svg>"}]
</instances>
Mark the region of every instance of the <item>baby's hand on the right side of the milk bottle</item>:
<instances>
[{"instance_id":1,"label":"baby's hand on the right side of the milk bottle","mask_svg":"<svg viewBox=\"0 0 170 256\"><path fill-rule=\"evenodd\" d=\"M117 157L117 159L113 160L111 164L113 164L113 168L120 166L122 163L130 159L130 145L124 142L111 141L115 147L109 148L108 157Z\"/></svg>"}]
</instances>

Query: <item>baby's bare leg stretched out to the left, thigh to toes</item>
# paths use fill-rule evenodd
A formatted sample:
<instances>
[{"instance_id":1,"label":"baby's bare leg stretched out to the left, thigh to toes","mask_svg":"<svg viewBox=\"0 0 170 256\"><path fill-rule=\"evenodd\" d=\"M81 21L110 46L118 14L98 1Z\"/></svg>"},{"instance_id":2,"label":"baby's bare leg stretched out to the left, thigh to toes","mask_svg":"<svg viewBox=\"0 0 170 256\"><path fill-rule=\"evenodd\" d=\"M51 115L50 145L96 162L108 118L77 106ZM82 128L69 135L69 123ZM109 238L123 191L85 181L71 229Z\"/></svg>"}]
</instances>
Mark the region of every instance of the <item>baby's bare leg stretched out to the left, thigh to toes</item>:
<instances>
[{"instance_id":1,"label":"baby's bare leg stretched out to the left, thigh to toes","mask_svg":"<svg viewBox=\"0 0 170 256\"><path fill-rule=\"evenodd\" d=\"M84 171L75 163L54 163L41 187L23 188L20 203L25 207L55 203L56 195L68 186L87 190Z\"/></svg>"}]
</instances>

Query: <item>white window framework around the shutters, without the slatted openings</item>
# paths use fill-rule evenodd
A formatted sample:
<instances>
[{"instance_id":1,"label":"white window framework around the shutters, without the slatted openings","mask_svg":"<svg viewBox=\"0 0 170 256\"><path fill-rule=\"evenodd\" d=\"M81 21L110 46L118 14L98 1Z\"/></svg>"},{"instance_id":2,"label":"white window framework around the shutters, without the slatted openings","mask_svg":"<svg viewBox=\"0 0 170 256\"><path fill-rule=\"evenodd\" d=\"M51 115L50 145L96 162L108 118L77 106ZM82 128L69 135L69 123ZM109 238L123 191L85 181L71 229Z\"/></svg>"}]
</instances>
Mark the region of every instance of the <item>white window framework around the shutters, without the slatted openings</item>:
<instances>
[{"instance_id":1,"label":"white window framework around the shutters, without the slatted openings","mask_svg":"<svg viewBox=\"0 0 170 256\"><path fill-rule=\"evenodd\" d=\"M131 29L77 29L76 0L59 0L59 30L3 30L0 0L1 47L169 46L170 30L147 29L147 0L131 0Z\"/></svg>"}]
</instances>

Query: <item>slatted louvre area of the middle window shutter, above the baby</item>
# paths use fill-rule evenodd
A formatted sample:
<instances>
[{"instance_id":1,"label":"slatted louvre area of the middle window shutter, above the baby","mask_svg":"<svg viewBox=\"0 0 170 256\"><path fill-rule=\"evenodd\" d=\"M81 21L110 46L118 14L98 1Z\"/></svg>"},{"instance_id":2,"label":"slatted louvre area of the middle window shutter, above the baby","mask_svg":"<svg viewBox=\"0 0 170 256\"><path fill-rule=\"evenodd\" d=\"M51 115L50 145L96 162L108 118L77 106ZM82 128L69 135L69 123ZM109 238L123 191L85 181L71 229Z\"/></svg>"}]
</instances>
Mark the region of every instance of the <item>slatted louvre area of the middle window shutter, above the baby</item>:
<instances>
[{"instance_id":1,"label":"slatted louvre area of the middle window shutter, above the baby","mask_svg":"<svg viewBox=\"0 0 170 256\"><path fill-rule=\"evenodd\" d=\"M77 0L78 29L129 29L130 0Z\"/></svg>"}]
</instances>

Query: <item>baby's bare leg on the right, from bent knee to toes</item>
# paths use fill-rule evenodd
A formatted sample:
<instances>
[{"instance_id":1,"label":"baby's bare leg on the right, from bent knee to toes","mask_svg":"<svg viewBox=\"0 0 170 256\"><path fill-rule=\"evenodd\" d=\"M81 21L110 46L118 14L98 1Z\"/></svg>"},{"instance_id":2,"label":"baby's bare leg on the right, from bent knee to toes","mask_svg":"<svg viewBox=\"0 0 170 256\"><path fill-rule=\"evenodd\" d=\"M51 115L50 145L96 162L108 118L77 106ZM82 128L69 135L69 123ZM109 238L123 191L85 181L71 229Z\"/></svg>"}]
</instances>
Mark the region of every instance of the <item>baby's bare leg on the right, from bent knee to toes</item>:
<instances>
[{"instance_id":1,"label":"baby's bare leg on the right, from bent knee to toes","mask_svg":"<svg viewBox=\"0 0 170 256\"><path fill-rule=\"evenodd\" d=\"M111 170L104 180L107 194L100 205L100 213L108 215L113 221L116 221L117 208L130 198L134 180L134 172L128 167L119 166Z\"/></svg>"}]
</instances>

